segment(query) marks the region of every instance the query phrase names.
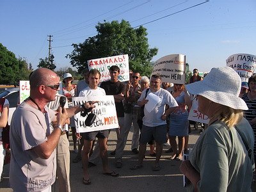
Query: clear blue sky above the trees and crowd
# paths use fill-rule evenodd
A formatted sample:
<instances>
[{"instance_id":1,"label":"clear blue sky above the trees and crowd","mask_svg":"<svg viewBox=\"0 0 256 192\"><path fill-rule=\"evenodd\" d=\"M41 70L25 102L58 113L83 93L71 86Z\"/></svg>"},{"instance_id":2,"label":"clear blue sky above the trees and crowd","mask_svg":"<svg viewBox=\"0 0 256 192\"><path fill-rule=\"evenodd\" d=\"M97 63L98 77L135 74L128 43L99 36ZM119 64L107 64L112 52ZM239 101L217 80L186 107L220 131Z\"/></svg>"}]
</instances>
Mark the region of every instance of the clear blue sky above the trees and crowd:
<instances>
[{"instance_id":1,"label":"clear blue sky above the trees and crowd","mask_svg":"<svg viewBox=\"0 0 256 192\"><path fill-rule=\"evenodd\" d=\"M0 43L35 69L52 35L58 70L72 67L71 45L97 35L98 22L122 19L147 28L150 48L158 48L152 61L184 54L189 70L208 72L232 54L256 55L255 0L1 0Z\"/></svg>"}]
</instances>

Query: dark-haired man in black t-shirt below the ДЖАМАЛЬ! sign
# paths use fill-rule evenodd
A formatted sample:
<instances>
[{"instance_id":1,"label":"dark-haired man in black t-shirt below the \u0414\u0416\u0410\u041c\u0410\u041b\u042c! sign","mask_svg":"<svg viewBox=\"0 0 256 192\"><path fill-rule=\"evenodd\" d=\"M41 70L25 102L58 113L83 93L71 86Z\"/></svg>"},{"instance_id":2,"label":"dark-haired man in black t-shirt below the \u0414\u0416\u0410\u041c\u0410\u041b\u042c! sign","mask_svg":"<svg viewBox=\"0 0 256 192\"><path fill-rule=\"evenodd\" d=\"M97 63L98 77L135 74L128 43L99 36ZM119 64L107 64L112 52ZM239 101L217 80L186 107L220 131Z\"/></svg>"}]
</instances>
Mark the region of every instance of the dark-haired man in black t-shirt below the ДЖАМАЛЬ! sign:
<instances>
[{"instance_id":1,"label":"dark-haired man in black t-shirt below the \u0414\u0416\u0410\u041c\u0410\u041b\u042c! sign","mask_svg":"<svg viewBox=\"0 0 256 192\"><path fill-rule=\"evenodd\" d=\"M120 143L122 142L122 138L124 138L124 130L122 131L122 127L124 127L124 93L125 93L125 84L118 80L118 76L120 74L120 68L116 65L113 65L109 68L110 80L102 82L100 84L100 88L103 88L106 92L106 95L114 95L115 105L116 105L116 115L118 117L118 124L120 129L116 129L117 134L117 144L115 154L116 159L116 168L122 167L122 147Z\"/></svg>"}]
</instances>

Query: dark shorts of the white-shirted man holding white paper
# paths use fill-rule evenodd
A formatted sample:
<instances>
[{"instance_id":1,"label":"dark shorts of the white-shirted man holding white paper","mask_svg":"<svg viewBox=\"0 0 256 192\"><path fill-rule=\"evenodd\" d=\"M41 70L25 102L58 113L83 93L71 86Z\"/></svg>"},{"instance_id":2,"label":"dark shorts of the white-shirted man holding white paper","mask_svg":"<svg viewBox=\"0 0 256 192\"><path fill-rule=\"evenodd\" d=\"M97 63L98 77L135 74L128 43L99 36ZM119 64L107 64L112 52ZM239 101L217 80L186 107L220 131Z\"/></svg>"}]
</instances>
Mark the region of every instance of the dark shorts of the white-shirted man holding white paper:
<instances>
[{"instance_id":1,"label":"dark shorts of the white-shirted man holding white paper","mask_svg":"<svg viewBox=\"0 0 256 192\"><path fill-rule=\"evenodd\" d=\"M140 143L146 144L152 140L159 144L166 143L166 125L156 127L142 125Z\"/></svg>"}]
</instances>

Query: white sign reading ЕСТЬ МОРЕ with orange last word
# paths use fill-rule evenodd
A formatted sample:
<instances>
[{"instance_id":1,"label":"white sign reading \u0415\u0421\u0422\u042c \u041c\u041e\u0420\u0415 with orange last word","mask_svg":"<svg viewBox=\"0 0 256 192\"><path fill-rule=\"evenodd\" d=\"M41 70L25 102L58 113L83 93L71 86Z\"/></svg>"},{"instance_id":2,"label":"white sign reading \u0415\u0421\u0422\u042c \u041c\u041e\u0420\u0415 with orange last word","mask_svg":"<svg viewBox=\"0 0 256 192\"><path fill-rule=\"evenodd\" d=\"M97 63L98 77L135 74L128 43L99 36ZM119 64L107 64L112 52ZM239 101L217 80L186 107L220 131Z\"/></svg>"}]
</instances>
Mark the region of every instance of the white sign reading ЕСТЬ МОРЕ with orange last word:
<instances>
[{"instance_id":1,"label":"white sign reading \u0415\u0421\u0422\u042c \u041c\u041e\u0420\u0415 with orange last word","mask_svg":"<svg viewBox=\"0 0 256 192\"><path fill-rule=\"evenodd\" d=\"M79 106L88 100L99 100L99 103L95 104L96 108L93 108L92 110L92 113L97 115L97 118L90 127L86 127L85 120L87 116L83 117L81 116L81 113L74 115L77 132L100 131L119 127L113 95L99 97L72 97L73 106Z\"/></svg>"}]
</instances>

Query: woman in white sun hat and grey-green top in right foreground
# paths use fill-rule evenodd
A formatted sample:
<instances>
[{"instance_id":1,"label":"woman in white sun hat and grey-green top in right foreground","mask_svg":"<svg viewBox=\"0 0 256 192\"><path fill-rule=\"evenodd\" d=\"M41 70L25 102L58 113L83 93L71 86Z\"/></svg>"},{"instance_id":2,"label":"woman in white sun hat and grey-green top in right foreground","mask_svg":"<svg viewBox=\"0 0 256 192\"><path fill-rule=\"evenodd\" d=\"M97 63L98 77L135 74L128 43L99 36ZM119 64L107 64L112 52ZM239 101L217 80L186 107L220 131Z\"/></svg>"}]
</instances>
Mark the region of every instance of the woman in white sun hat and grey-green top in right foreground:
<instances>
[{"instance_id":1,"label":"woman in white sun hat and grey-green top in right foreground","mask_svg":"<svg viewBox=\"0 0 256 192\"><path fill-rule=\"evenodd\" d=\"M186 90L197 95L198 111L210 118L189 160L180 165L193 184L190 187L195 191L251 191L254 135L243 118L248 108L239 98L239 75L230 67L212 68L203 81L186 85Z\"/></svg>"}]
</instances>

